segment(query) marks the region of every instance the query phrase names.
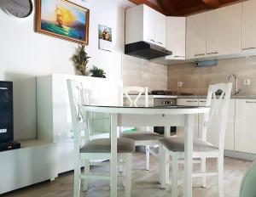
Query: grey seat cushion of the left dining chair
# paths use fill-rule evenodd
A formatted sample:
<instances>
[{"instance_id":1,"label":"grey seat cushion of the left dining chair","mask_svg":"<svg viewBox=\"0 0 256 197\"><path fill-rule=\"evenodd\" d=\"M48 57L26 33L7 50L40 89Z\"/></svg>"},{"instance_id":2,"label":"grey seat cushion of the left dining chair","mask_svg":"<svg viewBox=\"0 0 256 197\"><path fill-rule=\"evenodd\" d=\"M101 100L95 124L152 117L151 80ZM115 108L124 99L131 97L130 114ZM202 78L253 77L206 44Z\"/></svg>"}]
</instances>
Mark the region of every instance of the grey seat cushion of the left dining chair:
<instances>
[{"instance_id":1,"label":"grey seat cushion of the left dining chair","mask_svg":"<svg viewBox=\"0 0 256 197\"><path fill-rule=\"evenodd\" d=\"M129 138L118 138L118 153L133 153L135 151L135 142ZM111 140L109 138L93 139L85 144L80 153L110 153Z\"/></svg>"}]
</instances>

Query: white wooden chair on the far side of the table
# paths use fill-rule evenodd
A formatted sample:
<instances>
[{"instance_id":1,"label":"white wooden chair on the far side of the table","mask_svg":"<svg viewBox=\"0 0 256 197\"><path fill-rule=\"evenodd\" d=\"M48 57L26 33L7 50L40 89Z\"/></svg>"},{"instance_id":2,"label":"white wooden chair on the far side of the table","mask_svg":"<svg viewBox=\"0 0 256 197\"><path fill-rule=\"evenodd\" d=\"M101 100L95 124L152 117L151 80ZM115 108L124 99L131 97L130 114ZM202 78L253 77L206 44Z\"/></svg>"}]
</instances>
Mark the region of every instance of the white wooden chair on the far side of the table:
<instances>
[{"instance_id":1,"label":"white wooden chair on the far side of the table","mask_svg":"<svg viewBox=\"0 0 256 197\"><path fill-rule=\"evenodd\" d=\"M131 97L131 93L135 98ZM144 93L144 102L142 103L145 107L148 107L148 87L120 87L119 90L119 104L124 104L125 98L129 101L129 106L138 106L139 98ZM141 100L139 101L141 102ZM149 129L148 129L149 130ZM136 146L146 147L146 170L149 170L149 155L150 153L155 155L154 151L151 151L150 146L159 145L160 138L163 138L160 134L149 131L139 131L131 133L121 133L120 137L131 138L135 140Z\"/></svg>"}]
</instances>

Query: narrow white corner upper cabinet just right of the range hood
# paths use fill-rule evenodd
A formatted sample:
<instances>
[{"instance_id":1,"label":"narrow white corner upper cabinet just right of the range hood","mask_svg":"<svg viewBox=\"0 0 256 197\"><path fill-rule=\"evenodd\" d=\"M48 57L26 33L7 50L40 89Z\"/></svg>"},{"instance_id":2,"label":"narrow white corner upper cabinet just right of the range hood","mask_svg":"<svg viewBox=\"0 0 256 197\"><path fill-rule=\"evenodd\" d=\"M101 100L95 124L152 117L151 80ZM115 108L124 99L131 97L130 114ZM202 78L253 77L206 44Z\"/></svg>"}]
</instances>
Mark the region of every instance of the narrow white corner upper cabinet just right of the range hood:
<instances>
[{"instance_id":1,"label":"narrow white corner upper cabinet just right of the range hood","mask_svg":"<svg viewBox=\"0 0 256 197\"><path fill-rule=\"evenodd\" d=\"M166 49L172 51L168 59L185 59L186 18L166 17Z\"/></svg>"}]
</instances>

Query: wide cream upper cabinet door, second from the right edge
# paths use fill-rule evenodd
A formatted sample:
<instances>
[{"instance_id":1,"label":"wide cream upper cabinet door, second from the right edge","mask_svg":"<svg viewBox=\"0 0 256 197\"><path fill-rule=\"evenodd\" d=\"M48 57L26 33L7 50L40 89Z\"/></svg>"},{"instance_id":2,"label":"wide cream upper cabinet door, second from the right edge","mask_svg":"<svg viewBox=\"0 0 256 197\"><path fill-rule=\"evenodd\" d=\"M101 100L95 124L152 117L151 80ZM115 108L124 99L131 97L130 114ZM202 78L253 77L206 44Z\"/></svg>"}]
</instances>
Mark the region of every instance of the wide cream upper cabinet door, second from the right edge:
<instances>
[{"instance_id":1,"label":"wide cream upper cabinet door, second from the right edge","mask_svg":"<svg viewBox=\"0 0 256 197\"><path fill-rule=\"evenodd\" d=\"M241 3L207 12L207 57L241 53Z\"/></svg>"}]
</instances>

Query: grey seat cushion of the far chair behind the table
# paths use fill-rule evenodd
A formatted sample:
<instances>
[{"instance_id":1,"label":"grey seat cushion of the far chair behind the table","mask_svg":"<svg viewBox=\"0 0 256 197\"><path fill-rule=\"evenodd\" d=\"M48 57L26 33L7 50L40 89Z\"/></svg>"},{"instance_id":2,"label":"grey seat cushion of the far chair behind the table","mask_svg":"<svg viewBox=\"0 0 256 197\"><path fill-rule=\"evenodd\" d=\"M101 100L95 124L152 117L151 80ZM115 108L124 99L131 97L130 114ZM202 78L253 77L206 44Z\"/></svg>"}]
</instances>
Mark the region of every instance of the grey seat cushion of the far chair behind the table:
<instances>
[{"instance_id":1,"label":"grey seat cushion of the far chair behind the table","mask_svg":"<svg viewBox=\"0 0 256 197\"><path fill-rule=\"evenodd\" d=\"M122 138L131 138L135 141L143 141L143 140L160 140L163 138L160 134L155 132L131 132L131 133L121 133Z\"/></svg>"}]
</instances>

